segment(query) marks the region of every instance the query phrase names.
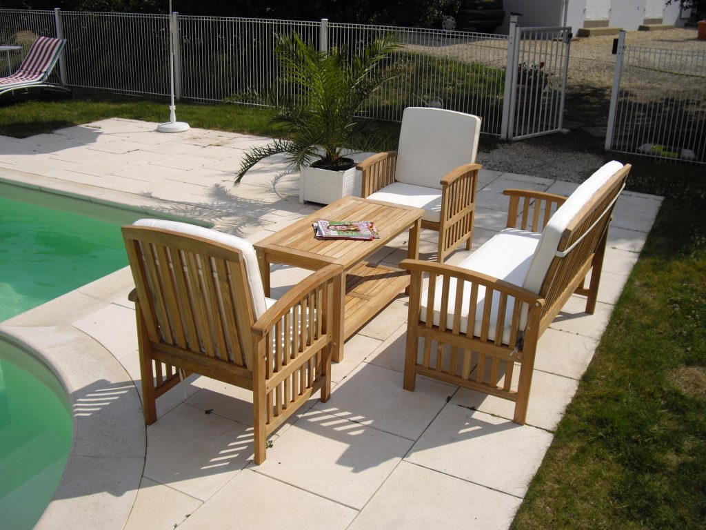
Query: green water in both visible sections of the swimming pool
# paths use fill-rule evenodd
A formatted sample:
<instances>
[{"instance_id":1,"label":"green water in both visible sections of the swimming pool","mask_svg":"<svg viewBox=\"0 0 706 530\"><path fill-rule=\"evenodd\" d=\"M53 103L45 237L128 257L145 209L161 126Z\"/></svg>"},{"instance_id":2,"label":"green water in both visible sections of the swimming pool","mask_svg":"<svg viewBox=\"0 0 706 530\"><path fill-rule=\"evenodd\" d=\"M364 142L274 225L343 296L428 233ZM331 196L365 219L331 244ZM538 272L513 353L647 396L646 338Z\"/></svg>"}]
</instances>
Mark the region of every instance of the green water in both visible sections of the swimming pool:
<instances>
[{"instance_id":1,"label":"green water in both visible sections of the swimming pool","mask_svg":"<svg viewBox=\"0 0 706 530\"><path fill-rule=\"evenodd\" d=\"M120 225L140 213L0 184L0 322L127 264ZM68 398L0 336L0 529L29 530L71 449Z\"/></svg>"}]
</instances>

